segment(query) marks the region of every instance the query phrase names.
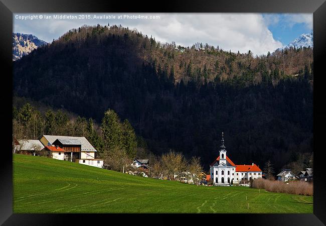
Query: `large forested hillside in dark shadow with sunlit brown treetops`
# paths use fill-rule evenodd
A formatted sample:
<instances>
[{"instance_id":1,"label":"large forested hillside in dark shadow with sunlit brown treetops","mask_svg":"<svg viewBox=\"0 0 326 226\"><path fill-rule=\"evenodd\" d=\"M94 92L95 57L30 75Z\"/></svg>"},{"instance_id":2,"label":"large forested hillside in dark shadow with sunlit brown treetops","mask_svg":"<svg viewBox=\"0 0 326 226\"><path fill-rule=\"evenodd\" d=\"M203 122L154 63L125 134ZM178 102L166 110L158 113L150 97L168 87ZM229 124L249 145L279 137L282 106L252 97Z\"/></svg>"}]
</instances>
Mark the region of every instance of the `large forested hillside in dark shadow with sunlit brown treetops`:
<instances>
[{"instance_id":1,"label":"large forested hillside in dark shadow with sunlit brown treetops","mask_svg":"<svg viewBox=\"0 0 326 226\"><path fill-rule=\"evenodd\" d=\"M173 37L171 37L173 40ZM236 164L276 169L312 152L313 56L289 48L252 56L162 44L135 30L81 27L14 62L14 95L97 123L114 109L153 153L214 161L225 133Z\"/></svg>"}]
</instances>

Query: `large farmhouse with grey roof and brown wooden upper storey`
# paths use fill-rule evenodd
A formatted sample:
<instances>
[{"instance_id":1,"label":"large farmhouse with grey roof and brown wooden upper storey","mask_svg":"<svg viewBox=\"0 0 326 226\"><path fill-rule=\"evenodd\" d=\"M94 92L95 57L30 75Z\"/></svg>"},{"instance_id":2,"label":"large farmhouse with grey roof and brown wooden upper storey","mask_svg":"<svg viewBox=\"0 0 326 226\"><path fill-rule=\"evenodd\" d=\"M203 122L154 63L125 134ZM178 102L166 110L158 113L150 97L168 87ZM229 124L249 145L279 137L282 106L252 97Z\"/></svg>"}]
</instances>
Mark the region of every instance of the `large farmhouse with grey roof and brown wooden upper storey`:
<instances>
[{"instance_id":1,"label":"large farmhouse with grey roof and brown wooden upper storey","mask_svg":"<svg viewBox=\"0 0 326 226\"><path fill-rule=\"evenodd\" d=\"M85 137L43 135L40 141L45 146L55 146L63 149L64 156L60 160L74 161L99 168L103 166L103 159L95 158L97 151Z\"/></svg>"}]
</instances>

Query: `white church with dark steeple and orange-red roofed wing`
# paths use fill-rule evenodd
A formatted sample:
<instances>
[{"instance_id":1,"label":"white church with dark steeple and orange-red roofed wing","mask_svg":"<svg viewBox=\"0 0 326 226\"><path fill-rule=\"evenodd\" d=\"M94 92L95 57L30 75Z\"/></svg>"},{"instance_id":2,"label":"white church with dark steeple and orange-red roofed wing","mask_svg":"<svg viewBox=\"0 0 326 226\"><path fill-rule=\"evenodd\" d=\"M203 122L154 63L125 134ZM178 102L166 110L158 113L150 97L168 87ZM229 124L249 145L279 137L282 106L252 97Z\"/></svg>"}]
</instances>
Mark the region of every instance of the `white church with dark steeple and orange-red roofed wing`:
<instances>
[{"instance_id":1,"label":"white church with dark steeple and orange-red roofed wing","mask_svg":"<svg viewBox=\"0 0 326 226\"><path fill-rule=\"evenodd\" d=\"M224 145L224 133L222 132L222 145L217 159L210 165L211 180L214 185L225 186L229 184L238 184L241 180L255 180L262 177L262 171L256 164L235 165L226 154Z\"/></svg>"}]
</instances>

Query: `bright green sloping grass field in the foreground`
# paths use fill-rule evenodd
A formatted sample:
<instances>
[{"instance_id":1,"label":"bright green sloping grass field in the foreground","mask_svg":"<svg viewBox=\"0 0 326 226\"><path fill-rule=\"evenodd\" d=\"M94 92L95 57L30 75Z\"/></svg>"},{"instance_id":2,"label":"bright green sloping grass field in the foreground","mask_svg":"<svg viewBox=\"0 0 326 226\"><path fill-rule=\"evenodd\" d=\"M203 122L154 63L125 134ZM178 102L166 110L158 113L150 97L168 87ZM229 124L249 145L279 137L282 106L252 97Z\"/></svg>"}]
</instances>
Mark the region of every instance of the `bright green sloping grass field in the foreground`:
<instances>
[{"instance_id":1,"label":"bright green sloping grass field in the foreground","mask_svg":"<svg viewBox=\"0 0 326 226\"><path fill-rule=\"evenodd\" d=\"M312 196L195 186L45 157L15 154L13 170L14 213L313 212Z\"/></svg>"}]
</instances>

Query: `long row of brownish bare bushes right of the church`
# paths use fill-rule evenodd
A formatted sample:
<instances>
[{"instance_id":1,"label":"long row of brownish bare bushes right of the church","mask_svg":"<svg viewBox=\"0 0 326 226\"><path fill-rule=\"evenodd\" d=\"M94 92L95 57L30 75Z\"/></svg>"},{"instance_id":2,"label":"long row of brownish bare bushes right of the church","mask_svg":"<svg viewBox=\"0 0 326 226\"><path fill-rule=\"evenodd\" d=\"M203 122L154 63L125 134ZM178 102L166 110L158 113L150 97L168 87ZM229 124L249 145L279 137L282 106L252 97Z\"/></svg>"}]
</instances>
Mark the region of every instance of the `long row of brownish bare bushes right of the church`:
<instances>
[{"instance_id":1,"label":"long row of brownish bare bushes right of the church","mask_svg":"<svg viewBox=\"0 0 326 226\"><path fill-rule=\"evenodd\" d=\"M271 192L281 192L299 195L313 195L313 184L306 181L271 181L262 178L252 181L251 187L261 188Z\"/></svg>"}]
</instances>

